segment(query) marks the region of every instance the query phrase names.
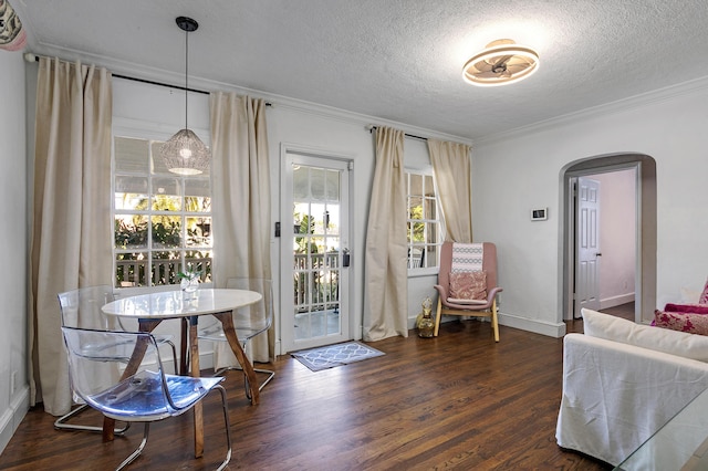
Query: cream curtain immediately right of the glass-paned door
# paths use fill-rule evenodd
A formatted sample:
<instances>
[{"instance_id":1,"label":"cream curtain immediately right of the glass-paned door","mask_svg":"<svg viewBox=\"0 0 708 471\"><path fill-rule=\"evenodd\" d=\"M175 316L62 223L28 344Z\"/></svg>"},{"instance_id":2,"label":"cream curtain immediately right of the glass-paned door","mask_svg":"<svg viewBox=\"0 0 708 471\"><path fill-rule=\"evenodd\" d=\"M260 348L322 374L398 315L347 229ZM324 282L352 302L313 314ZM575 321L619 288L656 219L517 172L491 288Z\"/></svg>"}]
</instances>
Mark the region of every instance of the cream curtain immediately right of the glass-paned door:
<instances>
[{"instance_id":1,"label":"cream curtain immediately right of the glass-paned door","mask_svg":"<svg viewBox=\"0 0 708 471\"><path fill-rule=\"evenodd\" d=\"M406 185L400 130L376 129L376 168L366 229L364 339L408 336Z\"/></svg>"}]
</instances>

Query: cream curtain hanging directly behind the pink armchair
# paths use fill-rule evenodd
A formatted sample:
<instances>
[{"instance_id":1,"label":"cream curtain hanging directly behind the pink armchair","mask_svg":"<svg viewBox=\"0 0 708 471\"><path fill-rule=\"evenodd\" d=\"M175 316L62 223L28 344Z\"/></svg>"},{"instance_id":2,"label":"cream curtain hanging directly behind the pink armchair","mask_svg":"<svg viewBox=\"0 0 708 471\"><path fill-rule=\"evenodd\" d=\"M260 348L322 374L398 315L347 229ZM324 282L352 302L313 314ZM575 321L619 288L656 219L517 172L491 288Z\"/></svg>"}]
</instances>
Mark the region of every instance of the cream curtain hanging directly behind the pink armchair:
<instances>
[{"instance_id":1,"label":"cream curtain hanging directly behind the pink armchair","mask_svg":"<svg viewBox=\"0 0 708 471\"><path fill-rule=\"evenodd\" d=\"M428 139L428 151L445 218L445 239L472 242L470 146Z\"/></svg>"}]
</instances>

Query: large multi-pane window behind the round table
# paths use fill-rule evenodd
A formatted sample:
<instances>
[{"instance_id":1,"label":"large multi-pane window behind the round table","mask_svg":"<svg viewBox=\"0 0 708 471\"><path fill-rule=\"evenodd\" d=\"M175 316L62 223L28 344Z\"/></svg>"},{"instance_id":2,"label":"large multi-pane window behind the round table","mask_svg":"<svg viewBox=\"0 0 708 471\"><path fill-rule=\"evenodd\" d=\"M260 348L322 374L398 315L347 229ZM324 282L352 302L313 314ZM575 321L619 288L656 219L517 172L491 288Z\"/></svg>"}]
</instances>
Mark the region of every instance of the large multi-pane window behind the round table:
<instances>
[{"instance_id":1,"label":"large multi-pane window behind the round table","mask_svg":"<svg viewBox=\"0 0 708 471\"><path fill-rule=\"evenodd\" d=\"M115 286L179 283L191 268L211 281L211 179L165 168L162 142L114 137Z\"/></svg>"}]
</instances>

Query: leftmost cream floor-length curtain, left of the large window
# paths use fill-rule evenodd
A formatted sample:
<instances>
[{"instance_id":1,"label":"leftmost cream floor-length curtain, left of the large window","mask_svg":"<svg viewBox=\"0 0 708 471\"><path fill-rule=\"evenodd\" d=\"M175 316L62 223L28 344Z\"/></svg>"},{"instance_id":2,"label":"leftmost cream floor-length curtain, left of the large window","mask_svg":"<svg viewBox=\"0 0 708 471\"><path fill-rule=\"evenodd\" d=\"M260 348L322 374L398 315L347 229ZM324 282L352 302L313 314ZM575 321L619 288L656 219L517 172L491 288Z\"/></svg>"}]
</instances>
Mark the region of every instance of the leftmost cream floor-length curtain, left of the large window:
<instances>
[{"instance_id":1,"label":"leftmost cream floor-length curtain, left of the large window","mask_svg":"<svg viewBox=\"0 0 708 471\"><path fill-rule=\"evenodd\" d=\"M40 59L30 264L31 404L71 408L56 294L112 284L111 73Z\"/></svg>"}]
</instances>

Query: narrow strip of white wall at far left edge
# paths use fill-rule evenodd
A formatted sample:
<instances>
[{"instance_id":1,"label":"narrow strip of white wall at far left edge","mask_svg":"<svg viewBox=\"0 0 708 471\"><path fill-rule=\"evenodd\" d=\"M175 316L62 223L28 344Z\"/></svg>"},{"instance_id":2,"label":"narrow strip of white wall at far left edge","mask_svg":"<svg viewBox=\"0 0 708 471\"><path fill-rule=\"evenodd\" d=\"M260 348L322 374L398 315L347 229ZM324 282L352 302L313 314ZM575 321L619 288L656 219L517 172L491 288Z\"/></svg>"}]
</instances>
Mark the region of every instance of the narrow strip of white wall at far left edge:
<instances>
[{"instance_id":1,"label":"narrow strip of white wall at far left edge","mask_svg":"<svg viewBox=\"0 0 708 471\"><path fill-rule=\"evenodd\" d=\"M0 51L0 452L29 408L27 376L28 208L24 62Z\"/></svg>"}]
</instances>

